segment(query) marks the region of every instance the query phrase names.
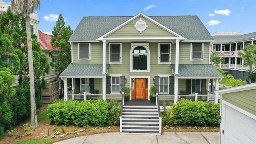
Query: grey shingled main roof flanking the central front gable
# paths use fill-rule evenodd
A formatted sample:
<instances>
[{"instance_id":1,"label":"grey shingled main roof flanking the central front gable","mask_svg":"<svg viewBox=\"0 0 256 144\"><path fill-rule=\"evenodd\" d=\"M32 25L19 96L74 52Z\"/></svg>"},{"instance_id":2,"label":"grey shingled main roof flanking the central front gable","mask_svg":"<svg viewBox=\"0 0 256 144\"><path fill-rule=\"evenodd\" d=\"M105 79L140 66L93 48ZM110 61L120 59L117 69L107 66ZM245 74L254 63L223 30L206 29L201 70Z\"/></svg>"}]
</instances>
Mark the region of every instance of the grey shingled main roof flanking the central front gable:
<instances>
[{"instance_id":1,"label":"grey shingled main roof flanking the central front gable","mask_svg":"<svg viewBox=\"0 0 256 144\"><path fill-rule=\"evenodd\" d=\"M198 16L149 16L187 40L214 40ZM131 16L83 17L69 41L96 40Z\"/></svg>"}]
</instances>

